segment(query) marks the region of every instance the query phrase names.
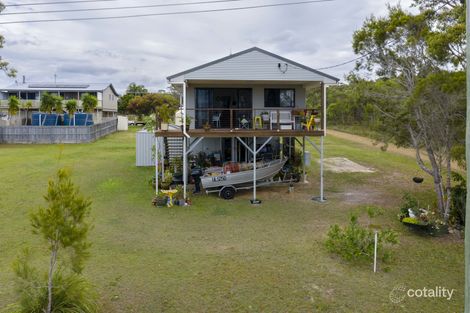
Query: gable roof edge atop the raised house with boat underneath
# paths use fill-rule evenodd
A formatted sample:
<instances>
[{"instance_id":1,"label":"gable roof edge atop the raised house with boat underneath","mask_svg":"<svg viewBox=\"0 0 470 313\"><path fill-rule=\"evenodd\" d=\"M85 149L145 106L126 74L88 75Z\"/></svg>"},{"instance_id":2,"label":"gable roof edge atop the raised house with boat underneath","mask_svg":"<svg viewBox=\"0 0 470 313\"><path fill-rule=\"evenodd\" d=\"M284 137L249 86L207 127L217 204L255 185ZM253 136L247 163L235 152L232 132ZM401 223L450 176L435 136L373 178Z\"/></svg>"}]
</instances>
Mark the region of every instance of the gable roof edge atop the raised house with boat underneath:
<instances>
[{"instance_id":1,"label":"gable roof edge atop the raised house with boat underneath","mask_svg":"<svg viewBox=\"0 0 470 313\"><path fill-rule=\"evenodd\" d=\"M287 64L290 64L292 66L295 66L297 68L300 68L302 70L305 70L307 72L310 72L312 74L315 74L316 76L320 76L320 77L323 77L323 78L326 78L328 80L332 80L332 81L335 81L335 82L338 82L339 79L334 77L334 76L331 76L331 75L328 75L326 73L323 73L323 72L320 72L318 70L315 70L311 67L308 67L306 65L303 65L303 64L300 64L298 62L295 62L293 60L290 60L290 59L287 59L287 58L284 58L280 55L277 55L277 54L274 54L272 52L269 52L269 51L266 51L266 50L263 50L261 48L258 48L258 47L253 47L253 48L250 48L250 49L247 49L247 50L243 50L243 51L240 51L240 52L237 52L237 53L234 53L234 54L231 54L229 56L226 56L226 57L223 57L223 58L220 58L220 59L217 59L215 61L212 61L212 62L208 62L208 63L205 63L205 64L202 64L202 65L199 65L199 66L196 66L196 67L193 67L189 70L186 70L186 71L183 71L183 72L180 72L180 73L177 73L177 74L174 74L174 75L171 75L171 76L168 76L167 79L169 82L171 82L173 79L177 78L177 77L180 77L180 76L186 76L188 74L195 74L196 72L198 71L201 71L201 70L204 70L204 69L208 69L210 67L213 67L214 65L220 65L220 63L223 63L223 62L226 62L226 61L229 61L229 60L233 60L235 58L238 58L240 56L243 56L243 55L247 55L247 54L250 54L250 53L253 53L253 52L258 52L258 53L261 53L265 56L269 56L271 58L274 58L274 59L277 59L279 61L282 61L282 62L285 62Z\"/></svg>"}]
</instances>

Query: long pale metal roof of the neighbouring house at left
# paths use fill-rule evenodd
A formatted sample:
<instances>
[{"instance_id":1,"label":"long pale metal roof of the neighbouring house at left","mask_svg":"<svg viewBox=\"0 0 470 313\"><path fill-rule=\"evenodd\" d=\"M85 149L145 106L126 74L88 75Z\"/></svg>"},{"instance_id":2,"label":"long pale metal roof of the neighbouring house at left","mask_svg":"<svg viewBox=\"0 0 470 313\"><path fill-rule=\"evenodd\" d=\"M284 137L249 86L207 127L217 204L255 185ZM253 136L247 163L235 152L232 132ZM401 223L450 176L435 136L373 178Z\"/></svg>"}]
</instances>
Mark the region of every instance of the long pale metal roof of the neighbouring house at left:
<instances>
[{"instance_id":1,"label":"long pale metal roof of the neighbouring house at left","mask_svg":"<svg viewBox=\"0 0 470 313\"><path fill-rule=\"evenodd\" d=\"M111 87L111 90L119 96L113 84L109 83L50 83L50 82L26 82L15 83L1 87L0 91L81 91L98 92Z\"/></svg>"}]
</instances>

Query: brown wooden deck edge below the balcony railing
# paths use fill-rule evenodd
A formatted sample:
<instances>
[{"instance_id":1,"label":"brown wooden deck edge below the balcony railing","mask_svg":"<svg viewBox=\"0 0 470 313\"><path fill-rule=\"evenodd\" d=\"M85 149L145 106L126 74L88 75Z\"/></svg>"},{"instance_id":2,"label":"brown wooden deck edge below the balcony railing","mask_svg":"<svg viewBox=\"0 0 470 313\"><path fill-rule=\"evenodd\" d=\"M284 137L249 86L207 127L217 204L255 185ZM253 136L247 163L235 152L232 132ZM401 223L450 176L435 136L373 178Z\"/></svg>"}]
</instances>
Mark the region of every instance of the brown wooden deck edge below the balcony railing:
<instances>
[{"instance_id":1,"label":"brown wooden deck edge below the balcony railing","mask_svg":"<svg viewBox=\"0 0 470 313\"><path fill-rule=\"evenodd\" d=\"M194 138L197 137L321 137L325 135L323 130L291 130L291 129L224 129L211 128L188 129L187 133ZM183 137L182 130L157 130L157 137Z\"/></svg>"}]
</instances>

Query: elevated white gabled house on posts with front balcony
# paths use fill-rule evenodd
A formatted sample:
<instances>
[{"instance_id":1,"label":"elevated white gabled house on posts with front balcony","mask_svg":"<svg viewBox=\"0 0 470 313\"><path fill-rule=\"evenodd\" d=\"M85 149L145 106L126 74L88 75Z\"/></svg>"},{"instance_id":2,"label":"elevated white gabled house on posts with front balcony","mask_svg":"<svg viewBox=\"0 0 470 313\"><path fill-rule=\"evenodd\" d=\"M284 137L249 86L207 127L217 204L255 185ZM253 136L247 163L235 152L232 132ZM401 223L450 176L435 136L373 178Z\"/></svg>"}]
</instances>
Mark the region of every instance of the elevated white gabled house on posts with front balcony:
<instances>
[{"instance_id":1,"label":"elevated white gabled house on posts with front balcony","mask_svg":"<svg viewBox=\"0 0 470 313\"><path fill-rule=\"evenodd\" d=\"M291 157L295 142L304 150L310 142L323 158L326 87L337 78L254 47L167 79L181 92L182 120L190 123L157 130L156 137L165 138L170 157L171 144L182 143L185 196L190 153L204 152L220 162L255 163L263 157ZM321 91L321 101L308 108L306 96L313 88ZM310 137L320 137L320 145ZM320 176L323 201L323 171Z\"/></svg>"}]
</instances>

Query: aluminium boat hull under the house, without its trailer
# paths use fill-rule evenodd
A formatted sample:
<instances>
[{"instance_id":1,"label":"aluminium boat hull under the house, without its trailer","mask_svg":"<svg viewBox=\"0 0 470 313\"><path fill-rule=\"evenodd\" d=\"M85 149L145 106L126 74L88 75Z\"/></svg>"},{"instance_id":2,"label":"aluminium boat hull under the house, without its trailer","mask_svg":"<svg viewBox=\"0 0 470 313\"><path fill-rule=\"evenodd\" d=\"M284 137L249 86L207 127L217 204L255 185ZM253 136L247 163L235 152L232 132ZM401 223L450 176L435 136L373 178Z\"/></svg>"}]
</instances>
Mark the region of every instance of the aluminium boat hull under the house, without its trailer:
<instances>
[{"instance_id":1,"label":"aluminium boat hull under the house, without its trailer","mask_svg":"<svg viewBox=\"0 0 470 313\"><path fill-rule=\"evenodd\" d=\"M287 158L256 164L256 182L271 180L282 169ZM242 187L253 185L253 169L240 172L211 173L201 177L201 183L207 192L221 190L226 186Z\"/></svg>"}]
</instances>

